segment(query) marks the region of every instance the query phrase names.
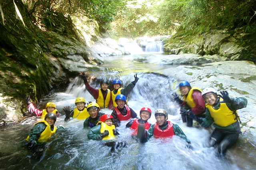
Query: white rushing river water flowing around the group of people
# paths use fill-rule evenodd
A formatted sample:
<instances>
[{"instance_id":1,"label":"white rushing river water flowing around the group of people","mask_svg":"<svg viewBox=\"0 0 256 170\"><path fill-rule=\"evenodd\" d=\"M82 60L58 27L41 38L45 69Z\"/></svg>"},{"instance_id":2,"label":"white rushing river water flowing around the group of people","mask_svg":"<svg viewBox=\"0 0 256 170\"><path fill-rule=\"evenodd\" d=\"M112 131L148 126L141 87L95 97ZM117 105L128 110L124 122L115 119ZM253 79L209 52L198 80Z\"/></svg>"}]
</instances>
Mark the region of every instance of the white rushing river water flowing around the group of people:
<instances>
[{"instance_id":1,"label":"white rushing river water flowing around the group of people","mask_svg":"<svg viewBox=\"0 0 256 170\"><path fill-rule=\"evenodd\" d=\"M141 54L150 55L150 54ZM141 56L138 55L138 56ZM158 54L160 55L160 54ZM172 77L156 74L154 71L170 67L171 65L160 65L135 62L132 59L136 55L105 57L100 69L86 72L90 85L99 88L100 80L108 79L110 82L119 78L123 86L127 86L134 80L133 75L138 74L140 78L135 88L128 96L129 106L139 113L142 107L150 107L152 112L163 108L169 113L168 120L178 124L190 139L193 149L186 148L186 142L179 137L172 139L150 139L141 144L132 139L130 129L125 125L128 121L121 123L118 127L120 135L117 141L126 141L128 146L124 149L110 152L110 148L103 145L102 141L89 141L88 129L83 129L83 121L73 119L64 122L65 115L58 117L55 125L63 126L66 131L59 132L55 138L46 144L41 152L32 152L22 147L26 142L30 129L39 117L29 117L0 133L0 169L255 169L255 148L244 144L245 137L240 137L235 147L227 152L226 158L216 156L216 148L204 148L203 144L208 141L212 129L202 127L186 127L179 115L179 106L172 100L172 93L177 90L177 82ZM47 102L56 104L60 113L64 106L75 107L74 101L77 97L84 97L86 102L94 101L92 96L85 90L82 79L74 78L63 92L51 92L43 98L38 108L43 109ZM109 109L101 112L111 114ZM154 114L149 119L155 123Z\"/></svg>"}]
</instances>

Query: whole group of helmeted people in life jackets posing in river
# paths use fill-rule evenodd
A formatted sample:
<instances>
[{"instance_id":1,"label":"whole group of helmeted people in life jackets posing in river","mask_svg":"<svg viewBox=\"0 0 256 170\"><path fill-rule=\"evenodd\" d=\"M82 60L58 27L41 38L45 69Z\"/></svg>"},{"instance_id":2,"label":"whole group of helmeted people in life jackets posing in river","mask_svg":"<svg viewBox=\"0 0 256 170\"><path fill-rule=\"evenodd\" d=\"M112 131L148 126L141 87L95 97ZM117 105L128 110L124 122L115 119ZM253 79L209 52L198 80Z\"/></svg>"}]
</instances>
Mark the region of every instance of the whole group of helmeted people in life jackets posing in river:
<instances>
[{"instance_id":1,"label":"whole group of helmeted people in life jackets posing in river","mask_svg":"<svg viewBox=\"0 0 256 170\"><path fill-rule=\"evenodd\" d=\"M157 109L154 113L156 123L151 125L148 122L152 115L149 107L140 109L140 118L137 113L128 106L127 97L134 88L139 78L134 75L134 81L128 86L122 88L120 80L112 82L114 90L108 88L108 80L100 81L100 88L93 88L88 83L86 75L82 72L81 78L84 80L86 90L94 97L96 102L86 101L83 97L75 100L76 108L70 109L70 106L64 107L66 114L65 121L70 119L85 119L84 128L88 131L88 139L107 141L104 145L111 147L114 151L127 145L125 141L115 141L115 136L119 135L118 128L121 121L128 121L126 127L133 130L132 135L141 143L147 142L151 137L154 138L171 138L177 135L187 142L187 147L192 149L190 140L186 137L182 129L168 121L168 112L165 109ZM224 156L227 149L232 147L238 140L240 134L238 109L246 107L247 100L244 97L230 98L227 91L217 94L214 88L205 88L201 90L192 87L188 81L180 82L179 90L181 95L173 93L173 99L180 105L180 115L182 121L188 127L193 126L193 120L197 121L202 127L215 127L206 147L218 147L218 154ZM180 96L182 98L180 98ZM46 109L42 111L36 109L30 102L30 98L26 99L28 111L31 114L41 116L41 121L37 122L31 129L27 137L27 147L32 149L40 143L47 142L56 131L63 130L63 127L55 127L54 123L60 114L56 106L52 102L46 104ZM111 114L100 112L102 108L112 109Z\"/></svg>"}]
</instances>

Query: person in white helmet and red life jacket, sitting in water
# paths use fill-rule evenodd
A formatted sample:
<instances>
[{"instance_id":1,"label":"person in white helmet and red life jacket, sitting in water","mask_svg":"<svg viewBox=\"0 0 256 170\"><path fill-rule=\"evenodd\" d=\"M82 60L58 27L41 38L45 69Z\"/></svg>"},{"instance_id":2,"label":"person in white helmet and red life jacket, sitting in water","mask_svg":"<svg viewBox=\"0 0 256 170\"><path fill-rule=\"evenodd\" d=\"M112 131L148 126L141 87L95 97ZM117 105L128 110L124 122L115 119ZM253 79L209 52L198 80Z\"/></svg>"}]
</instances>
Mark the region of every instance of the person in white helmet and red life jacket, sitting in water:
<instances>
[{"instance_id":1,"label":"person in white helmet and red life jacket, sitting in water","mask_svg":"<svg viewBox=\"0 0 256 170\"><path fill-rule=\"evenodd\" d=\"M144 134L141 135L141 142L146 142L152 136L154 136L154 138L171 138L172 136L177 135L188 143L188 148L191 148L190 141L180 127L176 124L172 124L171 121L167 121L168 114L165 109L157 109L155 112L155 117L156 123L151 125L148 131L143 131Z\"/></svg>"}]
</instances>

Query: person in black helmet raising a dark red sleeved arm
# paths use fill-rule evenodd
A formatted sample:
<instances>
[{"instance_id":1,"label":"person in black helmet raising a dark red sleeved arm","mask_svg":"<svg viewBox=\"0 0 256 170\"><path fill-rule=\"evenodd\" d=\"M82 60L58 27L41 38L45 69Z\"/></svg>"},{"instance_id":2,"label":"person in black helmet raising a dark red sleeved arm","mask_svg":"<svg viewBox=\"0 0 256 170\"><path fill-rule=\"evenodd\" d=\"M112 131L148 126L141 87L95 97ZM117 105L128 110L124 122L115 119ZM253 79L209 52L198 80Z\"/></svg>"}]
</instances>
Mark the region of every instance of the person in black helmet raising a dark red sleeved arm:
<instances>
[{"instance_id":1,"label":"person in black helmet raising a dark red sleeved arm","mask_svg":"<svg viewBox=\"0 0 256 170\"><path fill-rule=\"evenodd\" d=\"M100 88L96 89L90 86L84 72L82 72L81 78L84 80L86 90L93 96L100 108L114 109L111 91L108 89L108 80L101 80Z\"/></svg>"}]
</instances>

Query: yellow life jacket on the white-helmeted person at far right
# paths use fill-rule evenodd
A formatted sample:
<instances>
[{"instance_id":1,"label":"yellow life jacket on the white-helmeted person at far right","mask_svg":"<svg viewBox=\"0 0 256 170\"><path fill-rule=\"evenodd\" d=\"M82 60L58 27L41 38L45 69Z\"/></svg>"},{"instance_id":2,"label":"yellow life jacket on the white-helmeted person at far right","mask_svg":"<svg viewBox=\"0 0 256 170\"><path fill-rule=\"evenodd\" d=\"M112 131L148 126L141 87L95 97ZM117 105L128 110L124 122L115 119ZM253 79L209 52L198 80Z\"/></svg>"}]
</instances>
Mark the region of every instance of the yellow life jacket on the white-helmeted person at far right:
<instances>
[{"instance_id":1,"label":"yellow life jacket on the white-helmeted person at far right","mask_svg":"<svg viewBox=\"0 0 256 170\"><path fill-rule=\"evenodd\" d=\"M220 101L223 101L223 99L220 98ZM212 105L206 104L206 107L209 109L214 123L218 126L226 127L237 121L236 114L228 108L226 103L220 103L218 110L215 110Z\"/></svg>"}]
</instances>

